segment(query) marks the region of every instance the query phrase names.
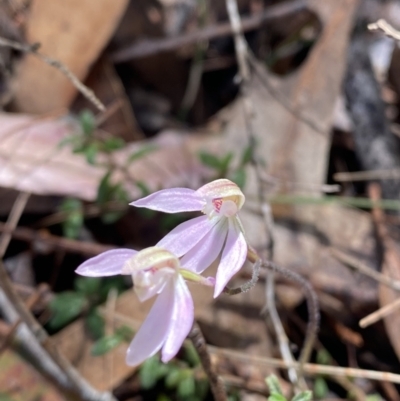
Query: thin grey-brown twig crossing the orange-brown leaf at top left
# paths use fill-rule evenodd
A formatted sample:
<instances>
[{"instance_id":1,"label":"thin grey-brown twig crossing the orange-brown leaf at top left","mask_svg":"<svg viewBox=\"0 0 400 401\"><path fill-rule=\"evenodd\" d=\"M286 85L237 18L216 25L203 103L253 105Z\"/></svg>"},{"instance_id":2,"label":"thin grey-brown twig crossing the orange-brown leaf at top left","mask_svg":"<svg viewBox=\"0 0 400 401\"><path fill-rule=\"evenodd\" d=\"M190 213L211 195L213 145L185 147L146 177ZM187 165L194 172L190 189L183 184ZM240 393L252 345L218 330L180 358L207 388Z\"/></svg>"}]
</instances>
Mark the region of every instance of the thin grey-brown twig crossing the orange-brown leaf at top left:
<instances>
[{"instance_id":1,"label":"thin grey-brown twig crossing the orange-brown leaf at top left","mask_svg":"<svg viewBox=\"0 0 400 401\"><path fill-rule=\"evenodd\" d=\"M10 47L14 50L19 50L24 53L33 54L34 56L40 58L46 64L58 69L71 81L72 85L74 85L75 88L78 89L78 91L81 92L82 95L86 97L86 99L91 101L100 111L105 111L106 108L104 104L100 101L100 99L94 94L94 92L90 88L84 85L78 79L78 77L72 71L70 71L70 69L66 65L62 64L58 60L45 56L44 54L38 51L40 44L28 45L0 37L0 46Z\"/></svg>"}]
</instances>

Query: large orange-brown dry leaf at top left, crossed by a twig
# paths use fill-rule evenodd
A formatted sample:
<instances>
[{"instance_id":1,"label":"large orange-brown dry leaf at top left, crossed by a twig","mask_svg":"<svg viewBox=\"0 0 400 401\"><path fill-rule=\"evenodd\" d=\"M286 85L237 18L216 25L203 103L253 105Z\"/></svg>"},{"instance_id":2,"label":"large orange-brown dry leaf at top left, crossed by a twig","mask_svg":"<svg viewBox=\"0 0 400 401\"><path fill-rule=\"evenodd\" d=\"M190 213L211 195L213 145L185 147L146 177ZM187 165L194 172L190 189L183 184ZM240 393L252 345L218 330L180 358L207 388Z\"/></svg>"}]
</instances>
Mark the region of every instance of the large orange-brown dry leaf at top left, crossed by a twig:
<instances>
[{"instance_id":1,"label":"large orange-brown dry leaf at top left, crossed by a twig","mask_svg":"<svg viewBox=\"0 0 400 401\"><path fill-rule=\"evenodd\" d=\"M26 26L28 43L64 63L83 80L107 45L128 0L36 0ZM76 88L58 70L27 55L16 74L15 108L47 113L68 107Z\"/></svg>"}]
</instances>

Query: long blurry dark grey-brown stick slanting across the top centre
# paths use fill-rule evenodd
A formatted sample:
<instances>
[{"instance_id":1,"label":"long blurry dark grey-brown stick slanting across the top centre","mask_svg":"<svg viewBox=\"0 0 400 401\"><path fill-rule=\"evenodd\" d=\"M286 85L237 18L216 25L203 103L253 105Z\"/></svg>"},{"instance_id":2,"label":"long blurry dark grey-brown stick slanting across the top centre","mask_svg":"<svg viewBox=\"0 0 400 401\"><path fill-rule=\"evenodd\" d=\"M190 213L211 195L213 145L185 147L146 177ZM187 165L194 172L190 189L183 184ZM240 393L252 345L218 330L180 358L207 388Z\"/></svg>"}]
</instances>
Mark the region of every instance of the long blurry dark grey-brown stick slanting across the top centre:
<instances>
[{"instance_id":1,"label":"long blurry dark grey-brown stick slanting across the top centre","mask_svg":"<svg viewBox=\"0 0 400 401\"><path fill-rule=\"evenodd\" d=\"M295 14L307 8L304 0L294 0L268 7L264 12L242 19L242 31L259 28L267 21ZM112 61L123 63L129 60L148 57L154 54L175 50L185 45L209 41L218 37L229 36L233 33L230 23L213 25L194 32L185 32L181 35L162 39L146 39L131 46L117 50L111 55Z\"/></svg>"}]
</instances>

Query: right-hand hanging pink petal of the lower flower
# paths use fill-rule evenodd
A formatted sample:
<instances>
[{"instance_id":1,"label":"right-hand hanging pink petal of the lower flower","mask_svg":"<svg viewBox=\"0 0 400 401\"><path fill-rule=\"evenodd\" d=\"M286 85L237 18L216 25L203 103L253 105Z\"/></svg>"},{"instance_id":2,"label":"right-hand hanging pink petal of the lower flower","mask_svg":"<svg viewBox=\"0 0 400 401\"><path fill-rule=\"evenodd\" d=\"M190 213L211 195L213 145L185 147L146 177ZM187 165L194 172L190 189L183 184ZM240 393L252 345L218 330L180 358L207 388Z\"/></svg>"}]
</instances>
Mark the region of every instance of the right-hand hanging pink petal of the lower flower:
<instances>
[{"instance_id":1,"label":"right-hand hanging pink petal of the lower flower","mask_svg":"<svg viewBox=\"0 0 400 401\"><path fill-rule=\"evenodd\" d=\"M171 360L181 348L183 341L189 334L194 320L192 296L179 275L175 281L175 302L169 326L168 336L162 348L161 360L166 363Z\"/></svg>"}]
</instances>

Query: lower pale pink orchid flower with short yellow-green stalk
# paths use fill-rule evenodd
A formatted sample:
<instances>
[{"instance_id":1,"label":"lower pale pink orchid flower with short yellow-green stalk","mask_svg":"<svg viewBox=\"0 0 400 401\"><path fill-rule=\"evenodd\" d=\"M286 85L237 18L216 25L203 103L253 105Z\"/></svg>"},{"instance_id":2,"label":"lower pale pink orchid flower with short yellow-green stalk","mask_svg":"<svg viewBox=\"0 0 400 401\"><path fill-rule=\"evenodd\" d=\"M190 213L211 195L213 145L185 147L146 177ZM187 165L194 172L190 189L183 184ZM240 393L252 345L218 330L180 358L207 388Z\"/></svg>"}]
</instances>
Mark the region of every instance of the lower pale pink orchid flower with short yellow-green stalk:
<instances>
[{"instance_id":1,"label":"lower pale pink orchid flower with short yellow-green stalk","mask_svg":"<svg viewBox=\"0 0 400 401\"><path fill-rule=\"evenodd\" d=\"M193 325L193 300L185 278L213 286L214 278L205 278L181 267L171 252L146 248L140 252L114 249L88 259L76 270L89 277L128 274L141 302L157 296L146 320L133 338L126 355L128 365L136 366L160 349L168 362L179 351Z\"/></svg>"}]
</instances>

